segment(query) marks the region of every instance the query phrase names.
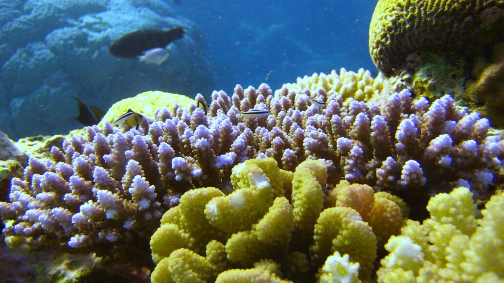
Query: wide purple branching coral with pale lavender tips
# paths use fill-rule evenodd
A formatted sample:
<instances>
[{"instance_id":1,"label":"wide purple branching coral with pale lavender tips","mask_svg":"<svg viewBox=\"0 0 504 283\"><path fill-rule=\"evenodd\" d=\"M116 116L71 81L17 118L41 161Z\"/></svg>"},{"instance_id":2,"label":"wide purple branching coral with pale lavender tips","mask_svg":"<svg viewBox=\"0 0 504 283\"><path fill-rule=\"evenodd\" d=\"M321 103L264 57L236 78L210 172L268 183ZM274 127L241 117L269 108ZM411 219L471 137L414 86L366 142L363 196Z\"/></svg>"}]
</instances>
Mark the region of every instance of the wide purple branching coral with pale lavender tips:
<instances>
[{"instance_id":1,"label":"wide purple branching coral with pale lavender tips","mask_svg":"<svg viewBox=\"0 0 504 283\"><path fill-rule=\"evenodd\" d=\"M242 118L250 109L270 115ZM343 103L322 87L284 85L273 94L266 84L237 85L231 97L212 94L208 115L196 105L175 105L138 130L86 128L85 137L53 147L52 160L31 158L0 213L12 247L96 251L148 239L183 192L230 189L231 168L258 156L273 157L289 171L323 158L328 184L368 184L425 207L431 194L461 184L487 190L504 157L504 141L487 136L488 129L487 119L458 109L448 95L429 103L403 90L377 105Z\"/></svg>"}]
</instances>

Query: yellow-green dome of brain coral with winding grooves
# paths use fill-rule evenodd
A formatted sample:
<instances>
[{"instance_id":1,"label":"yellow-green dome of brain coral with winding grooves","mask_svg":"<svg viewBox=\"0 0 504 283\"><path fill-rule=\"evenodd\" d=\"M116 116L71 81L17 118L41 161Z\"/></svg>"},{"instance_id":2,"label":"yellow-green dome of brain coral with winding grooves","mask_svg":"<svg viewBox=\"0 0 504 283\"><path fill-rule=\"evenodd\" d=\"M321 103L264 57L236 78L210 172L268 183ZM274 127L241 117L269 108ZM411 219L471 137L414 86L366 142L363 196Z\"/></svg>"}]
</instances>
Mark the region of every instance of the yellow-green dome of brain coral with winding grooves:
<instances>
[{"instance_id":1,"label":"yellow-green dome of brain coral with winding grooves","mask_svg":"<svg viewBox=\"0 0 504 283\"><path fill-rule=\"evenodd\" d=\"M369 53L389 75L415 52L474 54L502 15L504 0L380 0L369 26Z\"/></svg>"}]
</instances>

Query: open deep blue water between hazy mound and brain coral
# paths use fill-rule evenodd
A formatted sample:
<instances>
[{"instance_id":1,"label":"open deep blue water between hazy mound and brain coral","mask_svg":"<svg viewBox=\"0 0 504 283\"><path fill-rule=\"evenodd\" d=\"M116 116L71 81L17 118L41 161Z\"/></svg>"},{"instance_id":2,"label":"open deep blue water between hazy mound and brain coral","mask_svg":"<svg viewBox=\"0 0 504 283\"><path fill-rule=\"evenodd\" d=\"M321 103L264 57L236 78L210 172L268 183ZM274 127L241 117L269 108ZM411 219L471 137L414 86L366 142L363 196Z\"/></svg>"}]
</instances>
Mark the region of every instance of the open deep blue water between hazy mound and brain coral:
<instances>
[{"instance_id":1,"label":"open deep blue water between hazy mound and brain coral","mask_svg":"<svg viewBox=\"0 0 504 283\"><path fill-rule=\"evenodd\" d=\"M174 10L199 25L217 89L228 94L235 84L276 89L314 72L375 70L368 29L376 0L181 2Z\"/></svg>"}]
</instances>

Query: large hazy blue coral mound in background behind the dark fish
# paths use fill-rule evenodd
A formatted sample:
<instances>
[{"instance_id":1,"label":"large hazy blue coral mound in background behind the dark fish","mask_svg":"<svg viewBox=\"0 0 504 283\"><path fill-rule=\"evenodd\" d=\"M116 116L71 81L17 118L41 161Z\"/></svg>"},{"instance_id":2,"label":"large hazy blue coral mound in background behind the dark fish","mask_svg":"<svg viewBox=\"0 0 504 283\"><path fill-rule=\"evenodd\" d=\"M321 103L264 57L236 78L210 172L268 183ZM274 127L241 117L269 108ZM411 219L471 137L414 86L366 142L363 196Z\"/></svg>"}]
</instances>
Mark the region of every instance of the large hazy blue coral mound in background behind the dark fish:
<instances>
[{"instance_id":1,"label":"large hazy blue coral mound in background behind the dark fish","mask_svg":"<svg viewBox=\"0 0 504 283\"><path fill-rule=\"evenodd\" d=\"M103 109L146 89L213 89L199 28L161 0L11 1L1 10L0 130L13 139L81 127L72 96ZM175 26L184 38L168 46L161 66L108 53L126 33Z\"/></svg>"}]
</instances>

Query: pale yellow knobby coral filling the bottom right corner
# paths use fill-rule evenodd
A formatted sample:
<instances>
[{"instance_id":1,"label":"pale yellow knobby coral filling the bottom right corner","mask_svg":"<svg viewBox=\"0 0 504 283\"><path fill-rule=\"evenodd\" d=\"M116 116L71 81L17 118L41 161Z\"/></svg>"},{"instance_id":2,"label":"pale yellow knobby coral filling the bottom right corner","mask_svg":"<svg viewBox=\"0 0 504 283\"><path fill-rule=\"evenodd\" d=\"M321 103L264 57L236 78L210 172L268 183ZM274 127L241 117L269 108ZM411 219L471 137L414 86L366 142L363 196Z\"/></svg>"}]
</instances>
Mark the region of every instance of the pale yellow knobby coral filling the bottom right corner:
<instances>
[{"instance_id":1,"label":"pale yellow knobby coral filling the bottom right corner","mask_svg":"<svg viewBox=\"0 0 504 283\"><path fill-rule=\"evenodd\" d=\"M504 195L491 197L482 218L472 197L465 187L432 197L430 218L408 220L401 235L390 238L378 281L502 281Z\"/></svg>"}]
</instances>

